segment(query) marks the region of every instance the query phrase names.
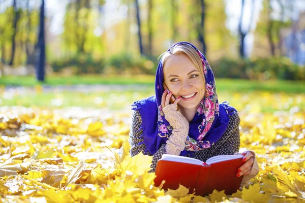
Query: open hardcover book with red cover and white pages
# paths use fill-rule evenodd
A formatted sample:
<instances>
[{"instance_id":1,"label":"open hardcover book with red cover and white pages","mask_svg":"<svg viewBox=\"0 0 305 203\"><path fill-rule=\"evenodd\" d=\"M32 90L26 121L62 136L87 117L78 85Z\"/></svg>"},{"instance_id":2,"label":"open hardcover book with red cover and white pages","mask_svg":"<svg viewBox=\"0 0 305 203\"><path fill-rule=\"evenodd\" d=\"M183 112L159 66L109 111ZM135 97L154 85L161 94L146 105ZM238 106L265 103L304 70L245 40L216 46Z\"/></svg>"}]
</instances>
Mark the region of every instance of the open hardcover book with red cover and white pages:
<instances>
[{"instance_id":1,"label":"open hardcover book with red cover and white pages","mask_svg":"<svg viewBox=\"0 0 305 203\"><path fill-rule=\"evenodd\" d=\"M242 155L219 155L206 160L163 154L157 163L155 185L163 180L163 189L177 189L179 184L189 188L189 193L207 195L225 190L226 194L236 192L242 176L236 177L238 168L243 164ZM194 191L195 189L195 191Z\"/></svg>"}]
</instances>

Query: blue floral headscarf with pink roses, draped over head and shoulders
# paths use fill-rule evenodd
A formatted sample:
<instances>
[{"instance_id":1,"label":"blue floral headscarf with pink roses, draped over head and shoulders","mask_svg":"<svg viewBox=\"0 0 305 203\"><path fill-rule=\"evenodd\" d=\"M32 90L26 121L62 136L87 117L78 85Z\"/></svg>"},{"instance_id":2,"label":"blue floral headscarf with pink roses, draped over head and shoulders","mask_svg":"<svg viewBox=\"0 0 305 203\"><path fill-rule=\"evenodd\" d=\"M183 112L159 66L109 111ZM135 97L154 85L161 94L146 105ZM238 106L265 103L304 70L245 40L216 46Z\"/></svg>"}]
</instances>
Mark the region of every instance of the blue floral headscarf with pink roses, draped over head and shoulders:
<instances>
[{"instance_id":1,"label":"blue floral headscarf with pink roses, draped over head and shoulders","mask_svg":"<svg viewBox=\"0 0 305 203\"><path fill-rule=\"evenodd\" d=\"M192 154L195 151L200 151L214 145L225 133L229 124L229 115L236 112L228 103L218 103L216 84L214 74L203 54L191 43L178 42L170 49L177 45L185 44L193 47L201 58L203 73L205 79L205 96L200 101L193 120L189 123L189 136L185 143L185 149L180 153L180 156ZM170 51L167 50L167 51ZM155 96L150 96L138 101L135 101L132 110L139 110L142 118L143 130L141 135L144 138L146 149L144 154L155 154L160 146L169 139L172 132L172 126L165 119L161 106L161 98L164 92L162 82L163 76L163 61L159 62L156 81L155 81Z\"/></svg>"}]
</instances>

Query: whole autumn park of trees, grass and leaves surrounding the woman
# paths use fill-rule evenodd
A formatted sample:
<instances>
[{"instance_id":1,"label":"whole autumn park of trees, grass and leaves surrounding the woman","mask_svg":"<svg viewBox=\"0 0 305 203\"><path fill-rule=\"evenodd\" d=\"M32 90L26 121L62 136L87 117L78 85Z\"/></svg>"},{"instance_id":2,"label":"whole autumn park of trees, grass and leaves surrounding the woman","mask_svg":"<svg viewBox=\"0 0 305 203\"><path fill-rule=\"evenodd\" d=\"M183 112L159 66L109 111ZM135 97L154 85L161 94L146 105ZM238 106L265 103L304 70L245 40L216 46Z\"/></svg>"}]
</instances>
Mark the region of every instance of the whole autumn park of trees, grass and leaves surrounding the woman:
<instances>
[{"instance_id":1,"label":"whole autumn park of trees, grass and leaves surrounding the woman","mask_svg":"<svg viewBox=\"0 0 305 203\"><path fill-rule=\"evenodd\" d=\"M205 55L239 112L240 152L257 154L242 193L164 193L128 155L130 105L155 94L157 59L179 41ZM303 0L0 0L1 198L304 200L304 64Z\"/></svg>"}]
</instances>

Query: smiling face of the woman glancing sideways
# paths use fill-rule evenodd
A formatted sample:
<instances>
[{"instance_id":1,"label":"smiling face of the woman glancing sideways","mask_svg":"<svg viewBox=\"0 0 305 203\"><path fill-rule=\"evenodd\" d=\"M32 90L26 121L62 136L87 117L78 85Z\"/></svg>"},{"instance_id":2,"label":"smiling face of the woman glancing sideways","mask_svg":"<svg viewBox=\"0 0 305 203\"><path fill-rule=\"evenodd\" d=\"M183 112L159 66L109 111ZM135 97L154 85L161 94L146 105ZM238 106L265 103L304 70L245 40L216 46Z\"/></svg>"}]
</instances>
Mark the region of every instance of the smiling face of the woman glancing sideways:
<instances>
[{"instance_id":1,"label":"smiling face of the woman glancing sideways","mask_svg":"<svg viewBox=\"0 0 305 203\"><path fill-rule=\"evenodd\" d=\"M163 74L165 84L175 98L181 96L178 103L181 107L198 107L205 94L205 82L188 55L169 56L165 61Z\"/></svg>"}]
</instances>

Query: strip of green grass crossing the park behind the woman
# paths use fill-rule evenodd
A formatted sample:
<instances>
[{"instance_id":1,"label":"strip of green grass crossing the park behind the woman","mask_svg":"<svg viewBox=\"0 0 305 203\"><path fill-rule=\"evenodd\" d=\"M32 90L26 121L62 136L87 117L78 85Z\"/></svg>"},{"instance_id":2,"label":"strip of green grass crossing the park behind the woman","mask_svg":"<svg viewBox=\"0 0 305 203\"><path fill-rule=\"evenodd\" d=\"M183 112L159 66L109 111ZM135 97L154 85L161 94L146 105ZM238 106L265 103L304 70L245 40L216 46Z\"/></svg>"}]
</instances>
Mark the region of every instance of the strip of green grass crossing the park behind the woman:
<instances>
[{"instance_id":1,"label":"strip of green grass crossing the park behind the woman","mask_svg":"<svg viewBox=\"0 0 305 203\"><path fill-rule=\"evenodd\" d=\"M48 76L44 83L37 82L34 76L3 76L0 77L2 86L36 86L36 85L145 85L154 87L155 76ZM242 79L216 79L218 91L249 92L269 91L303 93L305 92L305 81L251 81Z\"/></svg>"}]
</instances>

